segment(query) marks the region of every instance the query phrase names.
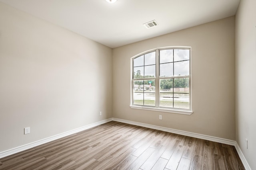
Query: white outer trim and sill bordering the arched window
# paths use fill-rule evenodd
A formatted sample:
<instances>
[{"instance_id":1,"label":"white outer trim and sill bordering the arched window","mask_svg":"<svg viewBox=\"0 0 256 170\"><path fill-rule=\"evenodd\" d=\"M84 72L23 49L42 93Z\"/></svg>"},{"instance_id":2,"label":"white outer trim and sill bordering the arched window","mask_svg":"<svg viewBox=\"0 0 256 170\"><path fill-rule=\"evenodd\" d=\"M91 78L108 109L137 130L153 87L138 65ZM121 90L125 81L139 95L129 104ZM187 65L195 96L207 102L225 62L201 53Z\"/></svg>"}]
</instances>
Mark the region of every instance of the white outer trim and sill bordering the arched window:
<instances>
[{"instance_id":1,"label":"white outer trim and sill bordering the arched window","mask_svg":"<svg viewBox=\"0 0 256 170\"><path fill-rule=\"evenodd\" d=\"M144 55L146 53L150 53L150 52L153 52L153 51L158 51L156 53L156 57L158 57L158 60L156 60L156 64L159 65L159 50L164 50L164 49L190 49L190 64L189 64L189 70L190 70L190 75L189 75L189 87L190 87L190 95L189 95L189 101L190 101L190 109L179 109L179 108L172 108L172 107L155 107L155 106L140 106L140 105L133 105L132 102L133 102L133 71L130 71L130 108L132 109L143 109L143 110L150 110L150 111L162 111L162 112L167 112L167 113L178 113L178 114L185 114L185 115L191 115L192 113L194 113L192 111L192 83L191 83L191 80L192 80L192 71L191 71L191 51L192 51L192 47L187 47L187 46L168 46L168 47L159 47L159 48L155 48L155 49L150 49L150 50L147 50L147 51L144 51L142 53L139 53L133 57L131 57L131 61L130 61L130 68L131 70L133 70L133 59L136 58L136 57L139 57L140 55ZM159 69L159 66L158 66L158 69ZM156 69L156 74L159 74L159 70ZM159 75L158 75L159 76ZM180 76L178 76L178 78L180 78ZM156 78L155 78L157 81L160 80L160 79L163 79L163 78L160 78L158 77L157 78L157 75L156 75ZM159 90L159 89L158 89ZM157 91L158 91L157 90ZM157 92L159 93L159 91ZM159 101L158 101L159 102Z\"/></svg>"}]
</instances>

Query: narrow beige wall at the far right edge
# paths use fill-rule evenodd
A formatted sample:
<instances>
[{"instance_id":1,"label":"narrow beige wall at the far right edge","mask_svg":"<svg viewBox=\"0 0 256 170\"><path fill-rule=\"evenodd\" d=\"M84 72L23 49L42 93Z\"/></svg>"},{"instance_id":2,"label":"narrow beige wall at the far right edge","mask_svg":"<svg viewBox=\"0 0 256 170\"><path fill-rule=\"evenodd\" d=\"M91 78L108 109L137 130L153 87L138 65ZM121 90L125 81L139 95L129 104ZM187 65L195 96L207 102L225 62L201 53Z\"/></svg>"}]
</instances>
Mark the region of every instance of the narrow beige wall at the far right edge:
<instances>
[{"instance_id":1,"label":"narrow beige wall at the far right edge","mask_svg":"<svg viewBox=\"0 0 256 170\"><path fill-rule=\"evenodd\" d=\"M252 170L256 170L255 7L255 0L241 0L236 14L236 141Z\"/></svg>"}]
</instances>

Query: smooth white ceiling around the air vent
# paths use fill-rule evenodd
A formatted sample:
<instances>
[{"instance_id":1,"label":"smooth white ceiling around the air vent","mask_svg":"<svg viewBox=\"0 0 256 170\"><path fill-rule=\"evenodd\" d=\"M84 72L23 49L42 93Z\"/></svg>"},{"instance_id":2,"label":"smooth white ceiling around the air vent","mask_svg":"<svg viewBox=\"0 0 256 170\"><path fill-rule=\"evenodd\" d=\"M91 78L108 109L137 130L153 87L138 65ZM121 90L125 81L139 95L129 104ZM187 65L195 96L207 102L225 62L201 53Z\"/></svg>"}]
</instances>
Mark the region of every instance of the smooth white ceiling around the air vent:
<instances>
[{"instance_id":1,"label":"smooth white ceiling around the air vent","mask_svg":"<svg viewBox=\"0 0 256 170\"><path fill-rule=\"evenodd\" d=\"M234 16L240 0L0 0L115 48ZM146 29L143 23L159 25Z\"/></svg>"}]
</instances>

